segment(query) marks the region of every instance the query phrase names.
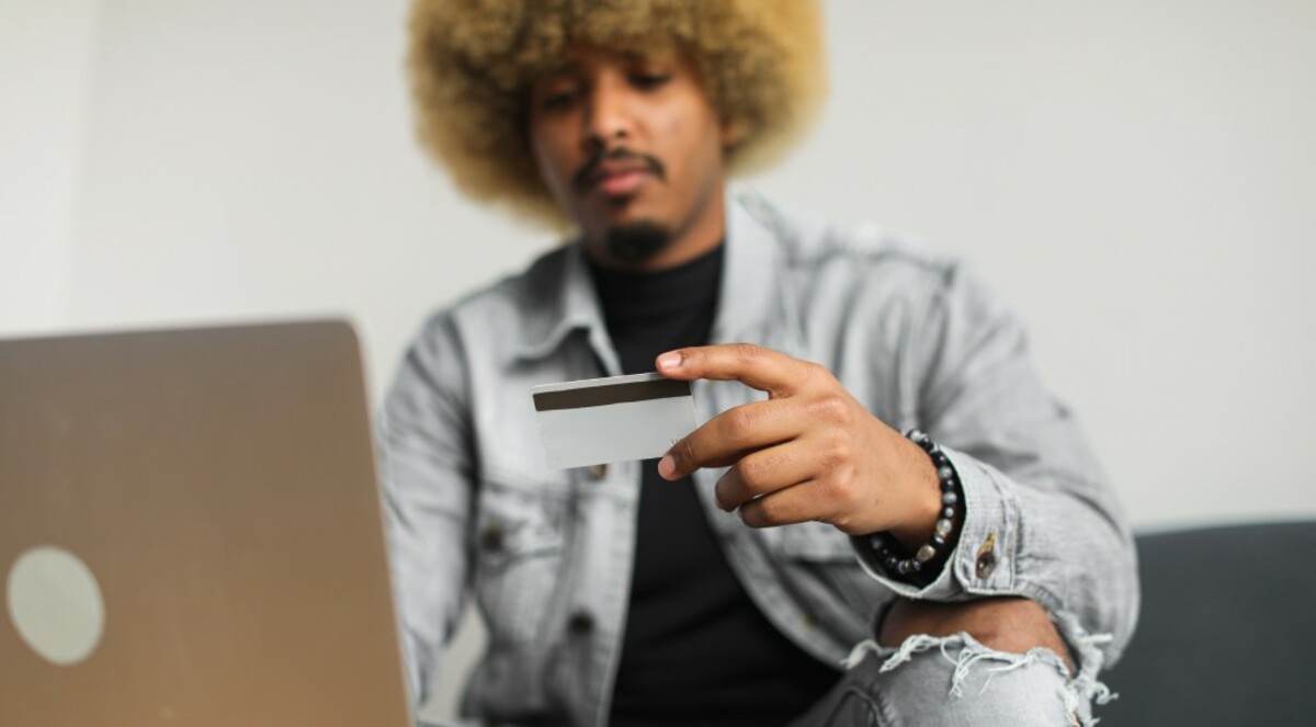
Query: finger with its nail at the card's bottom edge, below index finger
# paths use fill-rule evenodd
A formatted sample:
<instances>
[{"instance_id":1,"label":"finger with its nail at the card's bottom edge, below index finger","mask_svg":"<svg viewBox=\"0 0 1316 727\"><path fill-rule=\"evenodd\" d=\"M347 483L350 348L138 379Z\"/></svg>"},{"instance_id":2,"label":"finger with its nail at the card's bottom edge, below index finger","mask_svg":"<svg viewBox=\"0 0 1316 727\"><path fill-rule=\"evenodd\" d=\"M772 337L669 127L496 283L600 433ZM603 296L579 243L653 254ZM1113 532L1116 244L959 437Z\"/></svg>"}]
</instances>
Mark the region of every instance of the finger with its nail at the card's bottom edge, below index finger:
<instances>
[{"instance_id":1,"label":"finger with its nail at the card's bottom edge, below index finger","mask_svg":"<svg viewBox=\"0 0 1316 727\"><path fill-rule=\"evenodd\" d=\"M797 410L790 400L729 408L674 444L658 462L658 474L680 479L700 468L726 466L749 452L795 439L805 421Z\"/></svg>"}]
</instances>

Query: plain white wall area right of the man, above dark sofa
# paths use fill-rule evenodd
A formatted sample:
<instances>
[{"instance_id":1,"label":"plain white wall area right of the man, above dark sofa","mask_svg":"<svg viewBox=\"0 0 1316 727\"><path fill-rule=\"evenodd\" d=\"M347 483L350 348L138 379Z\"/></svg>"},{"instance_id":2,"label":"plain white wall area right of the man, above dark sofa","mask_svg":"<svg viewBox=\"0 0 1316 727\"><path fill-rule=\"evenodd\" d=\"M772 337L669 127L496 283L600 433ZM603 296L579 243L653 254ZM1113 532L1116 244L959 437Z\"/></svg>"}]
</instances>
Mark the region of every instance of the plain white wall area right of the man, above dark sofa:
<instances>
[{"instance_id":1,"label":"plain white wall area right of the man, above dark sofa","mask_svg":"<svg viewBox=\"0 0 1316 727\"><path fill-rule=\"evenodd\" d=\"M829 7L762 186L976 262L1136 523L1316 514L1316 4Z\"/></svg>"}]
</instances>

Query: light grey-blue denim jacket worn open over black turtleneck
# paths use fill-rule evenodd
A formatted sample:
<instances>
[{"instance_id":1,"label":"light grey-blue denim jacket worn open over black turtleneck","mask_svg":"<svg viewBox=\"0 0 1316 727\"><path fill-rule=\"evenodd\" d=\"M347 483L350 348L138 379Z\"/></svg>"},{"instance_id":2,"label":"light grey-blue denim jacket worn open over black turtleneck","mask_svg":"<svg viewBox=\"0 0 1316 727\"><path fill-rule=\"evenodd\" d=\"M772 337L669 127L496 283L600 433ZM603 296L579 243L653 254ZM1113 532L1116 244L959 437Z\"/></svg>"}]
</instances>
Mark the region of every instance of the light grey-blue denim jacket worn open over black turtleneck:
<instances>
[{"instance_id":1,"label":"light grey-blue denim jacket worn open over black turtleneck","mask_svg":"<svg viewBox=\"0 0 1316 727\"><path fill-rule=\"evenodd\" d=\"M753 602L800 648L837 665L896 594L1026 595L1109 635L1095 641L1107 662L1116 659L1137 612L1129 529L1074 416L1044 390L1016 319L953 259L747 192L730 199L713 342L824 364L891 427L929 432L959 473L966 512L951 560L917 589L888 578L861 539L830 525L745 527L713 504L721 471L697 471L708 522ZM619 373L579 244L420 332L380 416L418 701L474 598L490 639L463 713L607 722L640 468L549 469L530 389ZM734 382L695 383L700 421L757 398Z\"/></svg>"}]
</instances>

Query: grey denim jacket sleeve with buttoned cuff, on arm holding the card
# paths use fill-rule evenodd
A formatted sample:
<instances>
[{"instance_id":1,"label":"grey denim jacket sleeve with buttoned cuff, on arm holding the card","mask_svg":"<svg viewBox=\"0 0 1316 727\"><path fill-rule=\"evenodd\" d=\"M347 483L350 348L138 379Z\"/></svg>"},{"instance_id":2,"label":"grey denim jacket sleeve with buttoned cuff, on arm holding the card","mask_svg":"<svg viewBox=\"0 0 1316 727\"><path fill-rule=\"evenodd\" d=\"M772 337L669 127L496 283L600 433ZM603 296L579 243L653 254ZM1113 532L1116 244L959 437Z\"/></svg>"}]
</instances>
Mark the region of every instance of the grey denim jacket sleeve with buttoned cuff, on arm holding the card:
<instances>
[{"instance_id":1,"label":"grey denim jacket sleeve with buttoned cuff, on arm holding the card","mask_svg":"<svg viewBox=\"0 0 1316 727\"><path fill-rule=\"evenodd\" d=\"M1107 664L1137 618L1133 540L1074 415L1045 390L1020 323L963 269L945 270L903 366L919 425L946 450L965 493L959 541L925 586L869 573L911 598L1024 595L1094 635Z\"/></svg>"}]
</instances>

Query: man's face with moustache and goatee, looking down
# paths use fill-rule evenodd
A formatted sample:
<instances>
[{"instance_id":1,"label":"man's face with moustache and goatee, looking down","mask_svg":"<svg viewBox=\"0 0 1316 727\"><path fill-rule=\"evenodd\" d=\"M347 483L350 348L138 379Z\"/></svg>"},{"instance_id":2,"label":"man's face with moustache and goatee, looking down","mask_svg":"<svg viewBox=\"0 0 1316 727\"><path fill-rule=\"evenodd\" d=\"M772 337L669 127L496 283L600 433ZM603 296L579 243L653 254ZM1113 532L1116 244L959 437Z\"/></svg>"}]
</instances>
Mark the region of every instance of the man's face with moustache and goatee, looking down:
<instances>
[{"instance_id":1,"label":"man's face with moustache and goatee, looking down","mask_svg":"<svg viewBox=\"0 0 1316 727\"><path fill-rule=\"evenodd\" d=\"M566 61L532 88L529 133L540 174L591 253L645 266L716 244L726 130L694 65L675 51L595 47Z\"/></svg>"}]
</instances>

